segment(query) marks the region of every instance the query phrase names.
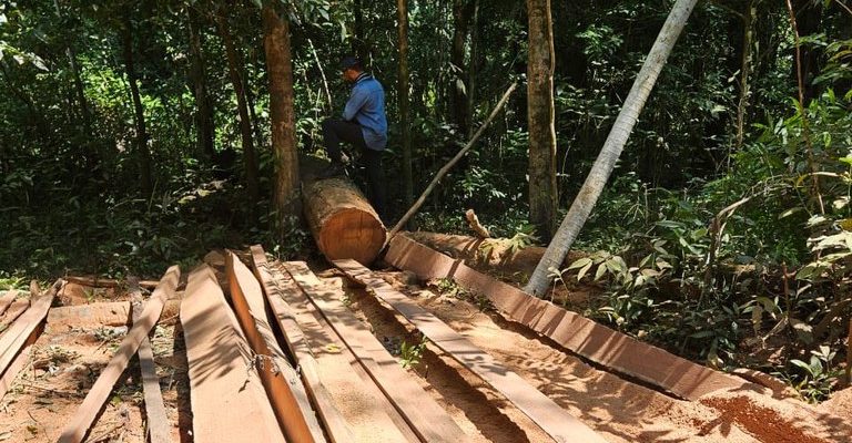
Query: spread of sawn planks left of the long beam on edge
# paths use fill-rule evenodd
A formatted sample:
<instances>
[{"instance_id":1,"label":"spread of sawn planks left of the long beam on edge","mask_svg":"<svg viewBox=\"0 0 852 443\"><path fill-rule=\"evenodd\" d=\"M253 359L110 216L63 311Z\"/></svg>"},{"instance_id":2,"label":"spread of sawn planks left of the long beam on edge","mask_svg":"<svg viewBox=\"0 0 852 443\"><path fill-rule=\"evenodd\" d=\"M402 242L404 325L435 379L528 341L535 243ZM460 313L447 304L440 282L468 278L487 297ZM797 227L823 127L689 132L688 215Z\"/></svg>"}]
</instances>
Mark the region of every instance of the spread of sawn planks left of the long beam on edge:
<instances>
[{"instance_id":1,"label":"spread of sawn planks left of the long beam on edge","mask_svg":"<svg viewBox=\"0 0 852 443\"><path fill-rule=\"evenodd\" d=\"M359 262L335 264L554 441L604 441ZM197 266L185 278L182 293L180 280L180 269L173 266L144 302L135 285L133 303L51 310L60 282L32 300L17 293L0 297L0 321L7 329L0 336L0 395L26 364L28 347L42 323L60 329L78 323L129 324L126 337L68 419L59 441L87 439L134 356L142 374L146 437L154 443L174 441L149 336L166 301L179 299L195 442L474 440L425 391L417 375L402 368L372 326L347 308L344 290L317 278L305 262L271 262L254 246L242 259L226 251L212 266Z\"/></svg>"}]
</instances>

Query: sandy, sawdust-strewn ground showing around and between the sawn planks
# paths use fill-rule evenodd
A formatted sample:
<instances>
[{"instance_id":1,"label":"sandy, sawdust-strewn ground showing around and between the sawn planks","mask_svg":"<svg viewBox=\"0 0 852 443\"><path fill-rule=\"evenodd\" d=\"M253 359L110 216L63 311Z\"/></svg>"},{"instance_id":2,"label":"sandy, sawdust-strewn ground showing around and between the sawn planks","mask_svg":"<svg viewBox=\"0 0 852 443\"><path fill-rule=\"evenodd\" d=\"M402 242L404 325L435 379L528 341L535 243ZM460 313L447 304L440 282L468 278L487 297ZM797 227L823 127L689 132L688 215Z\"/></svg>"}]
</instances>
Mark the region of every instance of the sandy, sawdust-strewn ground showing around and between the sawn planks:
<instances>
[{"instance_id":1,"label":"sandy, sawdust-strewn ground showing around and between the sawn planks","mask_svg":"<svg viewBox=\"0 0 852 443\"><path fill-rule=\"evenodd\" d=\"M316 262L311 267L345 290L348 308L369 324L400 363L403 343L422 342L402 317L338 271ZM841 440L835 431L823 427L830 420L825 414L852 423L849 389L819 406L754 392L720 393L698 402L679 400L591 364L504 320L477 300L416 281L407 272L377 275L610 442L834 442ZM67 305L130 299L121 290L67 285L64 291L59 299ZM125 333L126 327L49 324L34 343L32 363L0 403L0 441L55 441ZM187 363L175 310L163 312L152 348L173 437L191 442ZM436 347L427 343L420 363L408 371L474 441L548 441L513 403ZM144 430L142 383L134 358L87 441L144 442Z\"/></svg>"}]
</instances>

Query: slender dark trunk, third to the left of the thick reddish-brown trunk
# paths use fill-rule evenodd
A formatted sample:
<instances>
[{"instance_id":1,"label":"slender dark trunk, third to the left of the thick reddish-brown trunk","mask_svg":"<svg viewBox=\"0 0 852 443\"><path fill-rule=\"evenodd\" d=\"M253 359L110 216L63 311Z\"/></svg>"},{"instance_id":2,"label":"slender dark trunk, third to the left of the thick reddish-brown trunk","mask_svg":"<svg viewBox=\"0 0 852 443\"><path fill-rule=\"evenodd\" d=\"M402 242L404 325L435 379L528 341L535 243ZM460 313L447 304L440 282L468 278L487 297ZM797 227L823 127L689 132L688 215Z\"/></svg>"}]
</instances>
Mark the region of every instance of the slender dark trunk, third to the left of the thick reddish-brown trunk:
<instances>
[{"instance_id":1,"label":"slender dark trunk, third to the left of the thick reddish-brown trunk","mask_svg":"<svg viewBox=\"0 0 852 443\"><path fill-rule=\"evenodd\" d=\"M133 116L136 124L136 155L139 156L139 176L142 193L151 195L154 183L151 175L151 151L148 148L148 131L145 130L145 110L142 107L142 99L139 95L136 83L136 69L133 63L133 22L130 14L125 13L121 30L121 40L124 52L124 68L128 71L130 95L133 99Z\"/></svg>"}]
</instances>

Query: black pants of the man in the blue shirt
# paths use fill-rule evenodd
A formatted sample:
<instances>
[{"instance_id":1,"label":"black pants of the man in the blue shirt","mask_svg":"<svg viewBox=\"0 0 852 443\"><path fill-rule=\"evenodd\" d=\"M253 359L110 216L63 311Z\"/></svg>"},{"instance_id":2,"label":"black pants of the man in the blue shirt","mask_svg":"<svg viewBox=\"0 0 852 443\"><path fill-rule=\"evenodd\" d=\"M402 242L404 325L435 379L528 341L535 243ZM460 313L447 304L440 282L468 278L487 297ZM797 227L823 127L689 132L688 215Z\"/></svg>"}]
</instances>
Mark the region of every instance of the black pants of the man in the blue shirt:
<instances>
[{"instance_id":1,"label":"black pants of the man in the blue shirt","mask_svg":"<svg viewBox=\"0 0 852 443\"><path fill-rule=\"evenodd\" d=\"M385 171L382 168L382 151L371 150L364 142L361 125L343 120L326 119L323 121L323 145L332 162L343 163L341 143L355 146L361 154L361 162L367 169L367 199L387 223L385 213Z\"/></svg>"}]
</instances>

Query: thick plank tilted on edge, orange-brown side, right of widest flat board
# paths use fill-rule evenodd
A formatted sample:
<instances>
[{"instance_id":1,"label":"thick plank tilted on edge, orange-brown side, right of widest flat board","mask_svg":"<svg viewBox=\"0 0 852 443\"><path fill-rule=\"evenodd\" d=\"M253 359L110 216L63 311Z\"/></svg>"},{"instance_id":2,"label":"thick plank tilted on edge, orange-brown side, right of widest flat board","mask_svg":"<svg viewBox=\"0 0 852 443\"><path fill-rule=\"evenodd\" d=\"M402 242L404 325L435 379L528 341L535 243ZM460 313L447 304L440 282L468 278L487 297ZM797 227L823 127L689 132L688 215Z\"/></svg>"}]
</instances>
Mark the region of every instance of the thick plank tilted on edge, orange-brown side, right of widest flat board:
<instances>
[{"instance_id":1,"label":"thick plank tilted on edge, orange-brown side, right of widest flat board","mask_svg":"<svg viewBox=\"0 0 852 443\"><path fill-rule=\"evenodd\" d=\"M325 442L298 375L290 367L266 320L263 291L251 270L233 253L225 255L225 272L236 318L256 359L257 370L288 442Z\"/></svg>"}]
</instances>

